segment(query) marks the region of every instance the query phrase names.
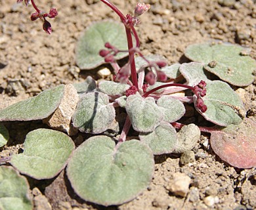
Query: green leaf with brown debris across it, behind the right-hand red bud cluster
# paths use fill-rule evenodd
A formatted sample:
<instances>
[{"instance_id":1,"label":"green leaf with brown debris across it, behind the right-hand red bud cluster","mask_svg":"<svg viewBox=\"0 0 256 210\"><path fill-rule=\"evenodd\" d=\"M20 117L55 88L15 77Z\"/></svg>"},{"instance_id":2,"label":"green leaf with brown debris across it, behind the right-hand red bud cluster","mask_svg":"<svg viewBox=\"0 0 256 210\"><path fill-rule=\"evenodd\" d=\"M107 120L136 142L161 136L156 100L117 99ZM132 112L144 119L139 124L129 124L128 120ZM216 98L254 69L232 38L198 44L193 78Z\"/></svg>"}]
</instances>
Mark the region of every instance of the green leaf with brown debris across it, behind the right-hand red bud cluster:
<instances>
[{"instance_id":1,"label":"green leaf with brown debris across it, behind the right-hand red bud cluster","mask_svg":"<svg viewBox=\"0 0 256 210\"><path fill-rule=\"evenodd\" d=\"M244 105L235 91L223 81L208 81L206 85L206 96L203 96L203 102L207 106L207 111L198 112L205 119L221 126L230 124L239 124L245 116ZM194 96L196 104L196 96Z\"/></svg>"}]
</instances>

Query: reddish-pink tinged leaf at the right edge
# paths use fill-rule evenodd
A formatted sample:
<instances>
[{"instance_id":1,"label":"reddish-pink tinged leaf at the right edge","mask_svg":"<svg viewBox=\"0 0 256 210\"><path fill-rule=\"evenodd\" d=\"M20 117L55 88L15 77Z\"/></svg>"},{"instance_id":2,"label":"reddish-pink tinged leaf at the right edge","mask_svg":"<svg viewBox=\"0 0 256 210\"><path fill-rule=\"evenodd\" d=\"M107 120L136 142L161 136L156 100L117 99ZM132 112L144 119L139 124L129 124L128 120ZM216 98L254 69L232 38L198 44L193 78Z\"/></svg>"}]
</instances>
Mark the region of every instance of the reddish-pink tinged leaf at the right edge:
<instances>
[{"instance_id":1,"label":"reddish-pink tinged leaf at the right edge","mask_svg":"<svg viewBox=\"0 0 256 210\"><path fill-rule=\"evenodd\" d=\"M239 125L228 125L211 133L211 147L221 159L240 169L256 167L256 123L244 118Z\"/></svg>"}]
</instances>

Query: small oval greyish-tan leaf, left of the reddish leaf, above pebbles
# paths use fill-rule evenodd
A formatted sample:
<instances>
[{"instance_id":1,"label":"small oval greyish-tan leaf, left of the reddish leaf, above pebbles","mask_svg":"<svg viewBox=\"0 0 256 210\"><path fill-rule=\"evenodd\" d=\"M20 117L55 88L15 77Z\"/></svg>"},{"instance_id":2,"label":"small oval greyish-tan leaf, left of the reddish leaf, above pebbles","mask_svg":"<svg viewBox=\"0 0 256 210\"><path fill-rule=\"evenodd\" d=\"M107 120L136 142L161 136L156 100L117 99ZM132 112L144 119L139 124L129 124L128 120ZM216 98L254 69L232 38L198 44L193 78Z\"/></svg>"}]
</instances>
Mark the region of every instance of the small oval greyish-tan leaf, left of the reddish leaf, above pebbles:
<instances>
[{"instance_id":1,"label":"small oval greyish-tan leaf, left of the reddish leaf, above pebbles","mask_svg":"<svg viewBox=\"0 0 256 210\"><path fill-rule=\"evenodd\" d=\"M174 152L184 153L192 150L200 140L200 135L200 129L195 124L184 125L177 133L178 142Z\"/></svg>"}]
</instances>

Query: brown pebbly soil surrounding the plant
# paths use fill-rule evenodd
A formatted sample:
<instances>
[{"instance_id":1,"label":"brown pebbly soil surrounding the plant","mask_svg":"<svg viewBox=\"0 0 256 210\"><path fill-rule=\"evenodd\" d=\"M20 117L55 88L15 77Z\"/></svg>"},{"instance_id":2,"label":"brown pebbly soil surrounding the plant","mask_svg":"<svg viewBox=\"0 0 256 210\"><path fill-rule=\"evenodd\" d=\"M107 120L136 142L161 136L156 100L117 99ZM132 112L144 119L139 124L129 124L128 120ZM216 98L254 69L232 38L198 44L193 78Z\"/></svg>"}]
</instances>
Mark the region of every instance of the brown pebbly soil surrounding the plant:
<instances>
[{"instance_id":1,"label":"brown pebbly soil surrounding the plant","mask_svg":"<svg viewBox=\"0 0 256 210\"><path fill-rule=\"evenodd\" d=\"M0 0L0 109L61 83L83 81L87 75L100 79L98 70L85 72L75 66L75 44L91 22L116 14L96 0L35 1L41 10L51 7L58 16L51 20L53 33L42 30L40 20L31 22L32 6L16 0ZM124 14L133 13L135 0L112 1ZM184 49L192 43L220 39L251 48L256 58L256 6L253 0L148 0L152 8L141 17L137 28L142 52L161 54L169 64L185 62ZM256 119L255 83L237 90L247 116ZM13 124L13 123L12 123ZM41 122L33 123L42 127ZM17 128L15 130L14 128ZM0 156L10 156L22 148L30 123L10 125L11 140L0 148ZM256 209L255 169L234 169L223 163L209 148L207 136L200 139L196 161L181 166L180 156L156 157L156 171L148 190L135 200L114 207L81 201L70 190L61 173L55 180L33 182L35 209ZM167 190L173 173L190 177L187 196ZM33 188L37 186L37 188ZM68 186L68 193L67 187ZM212 203L209 203L209 200ZM212 205L209 205L212 204Z\"/></svg>"}]
</instances>

